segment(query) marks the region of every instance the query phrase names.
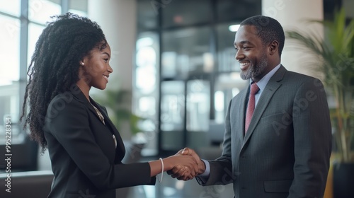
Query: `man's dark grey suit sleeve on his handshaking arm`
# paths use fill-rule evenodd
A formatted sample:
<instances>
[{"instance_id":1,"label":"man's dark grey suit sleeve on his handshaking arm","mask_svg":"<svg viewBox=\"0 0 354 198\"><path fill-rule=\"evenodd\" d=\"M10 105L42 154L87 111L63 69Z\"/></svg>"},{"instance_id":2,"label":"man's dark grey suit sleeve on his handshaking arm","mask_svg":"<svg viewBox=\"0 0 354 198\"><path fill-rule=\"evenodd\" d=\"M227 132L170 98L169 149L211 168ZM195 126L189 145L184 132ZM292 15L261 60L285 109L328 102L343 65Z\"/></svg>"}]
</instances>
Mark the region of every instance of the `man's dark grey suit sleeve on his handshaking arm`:
<instances>
[{"instance_id":1,"label":"man's dark grey suit sleeve on his handshaking arm","mask_svg":"<svg viewBox=\"0 0 354 198\"><path fill-rule=\"evenodd\" d=\"M209 161L210 163L210 175L205 183L201 180L197 180L200 185L227 185L233 182L232 176L232 161L231 161L231 126L230 126L230 109L232 101L229 103L227 110L227 116L225 119L225 132L224 141L222 144L222 156Z\"/></svg>"}]
</instances>

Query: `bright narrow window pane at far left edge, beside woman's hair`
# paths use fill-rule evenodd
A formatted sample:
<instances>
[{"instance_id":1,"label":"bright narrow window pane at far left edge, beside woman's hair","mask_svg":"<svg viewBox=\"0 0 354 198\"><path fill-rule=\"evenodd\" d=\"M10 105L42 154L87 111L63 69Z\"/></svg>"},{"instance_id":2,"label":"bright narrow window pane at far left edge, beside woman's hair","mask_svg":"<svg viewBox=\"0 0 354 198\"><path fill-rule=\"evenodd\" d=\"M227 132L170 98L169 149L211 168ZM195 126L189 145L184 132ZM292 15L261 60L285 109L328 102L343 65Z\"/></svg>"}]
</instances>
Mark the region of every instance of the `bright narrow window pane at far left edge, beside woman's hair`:
<instances>
[{"instance_id":1,"label":"bright narrow window pane at far left edge, beside woman's hair","mask_svg":"<svg viewBox=\"0 0 354 198\"><path fill-rule=\"evenodd\" d=\"M20 24L18 18L0 15L0 25L4 27L0 30L0 139L5 138L5 124L8 118L13 123L12 136L18 136L20 133L16 124L20 114ZM0 144L5 144L5 141L1 141Z\"/></svg>"}]
</instances>

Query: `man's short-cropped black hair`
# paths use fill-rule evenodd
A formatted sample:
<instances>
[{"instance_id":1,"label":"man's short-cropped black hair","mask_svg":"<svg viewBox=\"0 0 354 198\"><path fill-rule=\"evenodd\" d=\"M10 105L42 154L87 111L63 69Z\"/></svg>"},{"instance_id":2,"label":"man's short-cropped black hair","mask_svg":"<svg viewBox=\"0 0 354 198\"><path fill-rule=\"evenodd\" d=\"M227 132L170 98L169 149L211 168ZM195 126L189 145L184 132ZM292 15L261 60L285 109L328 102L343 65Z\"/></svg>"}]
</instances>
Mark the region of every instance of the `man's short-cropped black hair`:
<instances>
[{"instance_id":1,"label":"man's short-cropped black hair","mask_svg":"<svg viewBox=\"0 0 354 198\"><path fill-rule=\"evenodd\" d=\"M252 16L246 18L240 25L253 25L256 27L256 35L261 38L263 46L268 45L273 40L279 42L279 56L284 48L285 35L282 25L274 18L268 16Z\"/></svg>"}]
</instances>

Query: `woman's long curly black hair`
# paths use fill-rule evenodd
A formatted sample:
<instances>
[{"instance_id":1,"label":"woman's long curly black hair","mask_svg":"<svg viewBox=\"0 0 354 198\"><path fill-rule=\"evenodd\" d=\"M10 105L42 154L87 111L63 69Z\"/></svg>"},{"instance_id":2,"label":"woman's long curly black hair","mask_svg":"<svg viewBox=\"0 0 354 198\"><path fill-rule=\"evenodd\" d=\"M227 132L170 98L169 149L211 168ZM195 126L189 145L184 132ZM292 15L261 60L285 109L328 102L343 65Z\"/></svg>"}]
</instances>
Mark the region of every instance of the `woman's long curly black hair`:
<instances>
[{"instance_id":1,"label":"woman's long curly black hair","mask_svg":"<svg viewBox=\"0 0 354 198\"><path fill-rule=\"evenodd\" d=\"M29 127L30 138L38 141L42 152L47 148L43 127L50 101L70 91L79 81L79 62L93 48L104 48L107 43L101 27L89 18L66 13L52 19L35 45L21 115L21 121L25 117L23 128ZM27 104L29 112L25 115Z\"/></svg>"}]
</instances>

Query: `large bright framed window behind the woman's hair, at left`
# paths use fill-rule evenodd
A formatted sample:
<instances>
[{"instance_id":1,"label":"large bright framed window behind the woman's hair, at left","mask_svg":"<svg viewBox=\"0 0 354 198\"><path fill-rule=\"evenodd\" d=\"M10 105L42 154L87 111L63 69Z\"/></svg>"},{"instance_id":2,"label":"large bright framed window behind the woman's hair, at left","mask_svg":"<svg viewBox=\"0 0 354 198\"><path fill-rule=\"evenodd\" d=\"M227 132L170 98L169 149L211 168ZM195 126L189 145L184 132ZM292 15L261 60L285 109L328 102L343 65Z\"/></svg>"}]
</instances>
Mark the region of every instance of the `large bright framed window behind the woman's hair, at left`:
<instances>
[{"instance_id":1,"label":"large bright framed window behind the woman's hair, at left","mask_svg":"<svg viewBox=\"0 0 354 198\"><path fill-rule=\"evenodd\" d=\"M0 154L5 152L6 120L11 119L11 145L16 144L13 152L18 159L12 162L12 170L37 168L37 158L33 157L37 156L38 145L29 142L18 123L35 43L51 21L50 16L67 11L86 16L87 4L87 0L0 1Z\"/></svg>"}]
</instances>

